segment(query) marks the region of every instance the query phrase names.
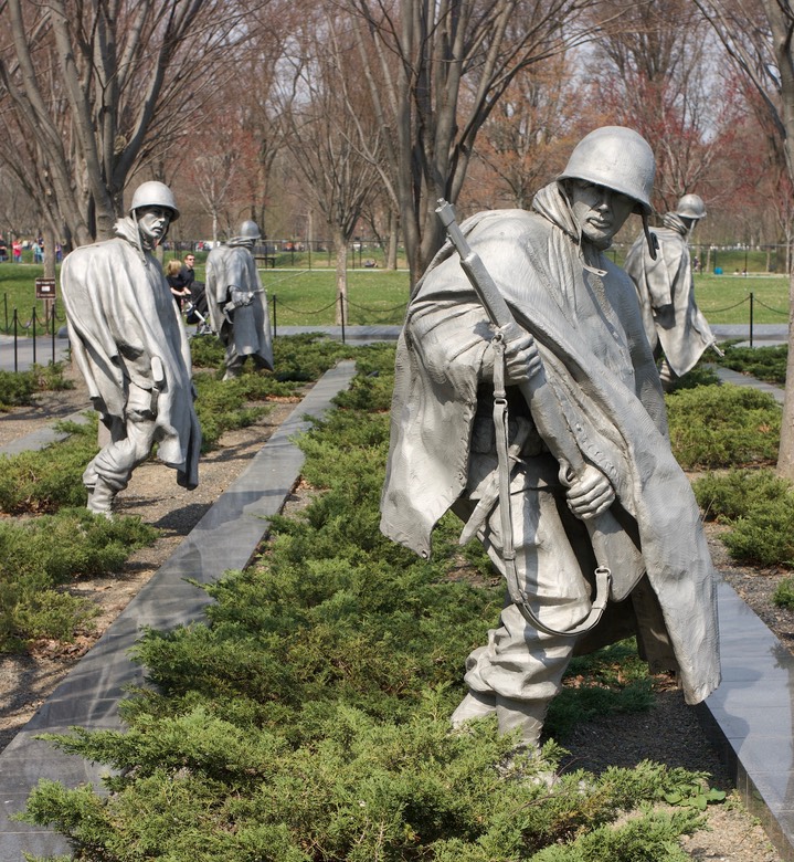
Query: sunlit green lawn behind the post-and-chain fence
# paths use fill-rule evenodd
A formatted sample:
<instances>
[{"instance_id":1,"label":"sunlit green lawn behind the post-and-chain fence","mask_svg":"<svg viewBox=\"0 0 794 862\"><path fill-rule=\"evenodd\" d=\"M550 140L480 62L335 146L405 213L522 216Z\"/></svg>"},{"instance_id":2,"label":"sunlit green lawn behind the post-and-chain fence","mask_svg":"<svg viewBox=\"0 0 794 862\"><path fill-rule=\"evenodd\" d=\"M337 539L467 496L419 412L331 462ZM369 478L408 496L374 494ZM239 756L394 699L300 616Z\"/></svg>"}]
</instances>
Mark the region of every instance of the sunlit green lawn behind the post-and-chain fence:
<instances>
[{"instance_id":1,"label":"sunlit green lawn behind the post-and-chain fence","mask_svg":"<svg viewBox=\"0 0 794 862\"><path fill-rule=\"evenodd\" d=\"M310 270L279 266L261 271L271 301L271 314L275 302L276 327L334 324L337 311L335 273L328 267L316 267L316 263L313 262ZM35 301L35 278L42 274L41 265L0 264L0 329L10 330L14 308L21 322L30 319L34 306L39 319L43 319L44 303ZM197 266L197 277L204 277L201 262ZM353 326L401 324L409 290L406 270L351 269L348 273L348 323ZM786 324L788 319L788 280L783 275L697 275L696 294L698 305L713 324L749 323L751 294L755 324ZM59 320L61 318L59 312Z\"/></svg>"}]
</instances>

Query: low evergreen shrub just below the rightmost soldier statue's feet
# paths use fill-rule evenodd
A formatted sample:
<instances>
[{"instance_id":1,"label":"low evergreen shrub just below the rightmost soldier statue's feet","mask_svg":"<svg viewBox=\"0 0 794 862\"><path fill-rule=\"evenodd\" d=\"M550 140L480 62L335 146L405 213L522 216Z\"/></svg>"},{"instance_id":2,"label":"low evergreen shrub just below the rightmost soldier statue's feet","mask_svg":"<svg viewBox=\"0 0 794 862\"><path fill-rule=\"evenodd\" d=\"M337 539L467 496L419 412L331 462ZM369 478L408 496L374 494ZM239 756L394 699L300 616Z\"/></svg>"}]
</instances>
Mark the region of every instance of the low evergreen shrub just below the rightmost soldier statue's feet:
<instances>
[{"instance_id":1,"label":"low evergreen shrub just below the rightmost soldier statue's feet","mask_svg":"<svg viewBox=\"0 0 794 862\"><path fill-rule=\"evenodd\" d=\"M781 408L766 392L700 386L667 396L673 452L685 470L774 463Z\"/></svg>"}]
</instances>

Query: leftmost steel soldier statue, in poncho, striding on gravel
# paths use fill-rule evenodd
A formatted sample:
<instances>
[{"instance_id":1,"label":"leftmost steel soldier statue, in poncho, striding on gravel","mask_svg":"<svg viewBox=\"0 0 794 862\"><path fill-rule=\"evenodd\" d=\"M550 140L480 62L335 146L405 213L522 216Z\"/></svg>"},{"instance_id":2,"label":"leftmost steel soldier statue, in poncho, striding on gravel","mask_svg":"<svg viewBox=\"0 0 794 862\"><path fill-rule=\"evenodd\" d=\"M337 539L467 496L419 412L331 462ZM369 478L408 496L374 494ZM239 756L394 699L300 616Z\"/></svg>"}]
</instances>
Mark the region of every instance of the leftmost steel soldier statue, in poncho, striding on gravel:
<instances>
[{"instance_id":1,"label":"leftmost steel soldier statue, in poncho, striding on gravel","mask_svg":"<svg viewBox=\"0 0 794 862\"><path fill-rule=\"evenodd\" d=\"M201 430L188 338L152 256L179 210L170 189L144 182L116 238L75 249L61 270L74 358L109 442L88 464L88 508L110 516L113 500L157 443L180 485L198 484ZM102 428L100 428L102 431Z\"/></svg>"}]
</instances>

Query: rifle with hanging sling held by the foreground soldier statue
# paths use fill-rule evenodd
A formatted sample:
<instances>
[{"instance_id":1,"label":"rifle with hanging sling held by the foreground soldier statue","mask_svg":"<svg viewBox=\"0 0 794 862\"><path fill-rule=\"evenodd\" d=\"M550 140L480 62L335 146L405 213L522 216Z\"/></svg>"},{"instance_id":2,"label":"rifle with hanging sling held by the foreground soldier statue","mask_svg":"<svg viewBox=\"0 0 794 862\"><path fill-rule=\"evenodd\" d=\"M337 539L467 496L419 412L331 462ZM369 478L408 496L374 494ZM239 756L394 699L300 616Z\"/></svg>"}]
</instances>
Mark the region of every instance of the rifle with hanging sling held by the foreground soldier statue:
<instances>
[{"instance_id":1,"label":"rifle with hanging sling held by the foreground soldier statue","mask_svg":"<svg viewBox=\"0 0 794 862\"><path fill-rule=\"evenodd\" d=\"M526 334L525 330L516 322L496 282L494 282L479 255L472 250L463 235L455 220L455 211L452 206L443 198L440 198L436 213L446 229L449 241L460 257L460 266L488 314L490 322L499 328L500 337L509 344L523 336ZM575 480L578 476L581 476L587 465L582 456L579 443L568 424L562 407L547 382L542 365L541 369L529 380L522 382L519 388L529 406L536 428L551 454L562 465L568 465L569 477ZM496 396L497 393L495 392L495 400ZM590 534L593 551L599 564L595 570L596 598L593 601L593 609L595 611L597 605L597 616L600 616L600 612L603 611L601 605L605 605L606 599L605 596L599 593L603 593L605 589L608 589L610 596L615 601L621 601L639 580L645 571L645 566L637 544L621 526L613 512L607 509L593 518L585 518L584 524ZM507 568L509 569L509 565ZM520 585L511 585L510 577L508 577L508 588L510 589L511 598L514 592L516 592L518 598L522 599L522 601L519 600L516 603L521 609L521 612L525 613L525 617L528 613L531 614L529 608L522 607L522 603L526 605L526 597L520 589ZM531 616L533 617L533 614ZM591 613L592 617L593 613ZM539 624L539 621L534 618L530 622L540 628L541 631L554 634L564 633L547 629ZM586 628L591 628L595 622L597 622L597 618L587 624ZM580 628L575 632L568 633L586 631L586 628Z\"/></svg>"}]
</instances>

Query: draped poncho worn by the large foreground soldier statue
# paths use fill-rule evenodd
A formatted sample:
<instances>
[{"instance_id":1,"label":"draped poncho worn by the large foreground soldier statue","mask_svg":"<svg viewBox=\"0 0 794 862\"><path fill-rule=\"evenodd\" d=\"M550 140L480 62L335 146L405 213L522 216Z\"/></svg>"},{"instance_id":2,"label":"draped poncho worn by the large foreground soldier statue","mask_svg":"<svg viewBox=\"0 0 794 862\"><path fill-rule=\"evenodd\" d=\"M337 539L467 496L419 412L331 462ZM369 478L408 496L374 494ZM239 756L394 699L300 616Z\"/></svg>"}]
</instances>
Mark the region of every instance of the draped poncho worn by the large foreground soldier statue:
<instances>
[{"instance_id":1,"label":"draped poncho worn by the large foreground soldier statue","mask_svg":"<svg viewBox=\"0 0 794 862\"><path fill-rule=\"evenodd\" d=\"M634 372L627 382L579 332L576 293L587 284L597 290L599 278L584 266L579 230L557 183L541 190L533 207L536 212L479 213L462 230L517 322L534 336L548 385L583 456L607 476L636 521L686 700L698 703L720 681L716 574L698 505L670 451L636 293L628 276L599 254L601 274L620 286L611 313L629 339L626 361ZM610 326L605 316L605 338ZM416 285L399 339L381 498L382 532L425 558L433 527L466 486L479 372L491 337L447 243Z\"/></svg>"}]
</instances>

